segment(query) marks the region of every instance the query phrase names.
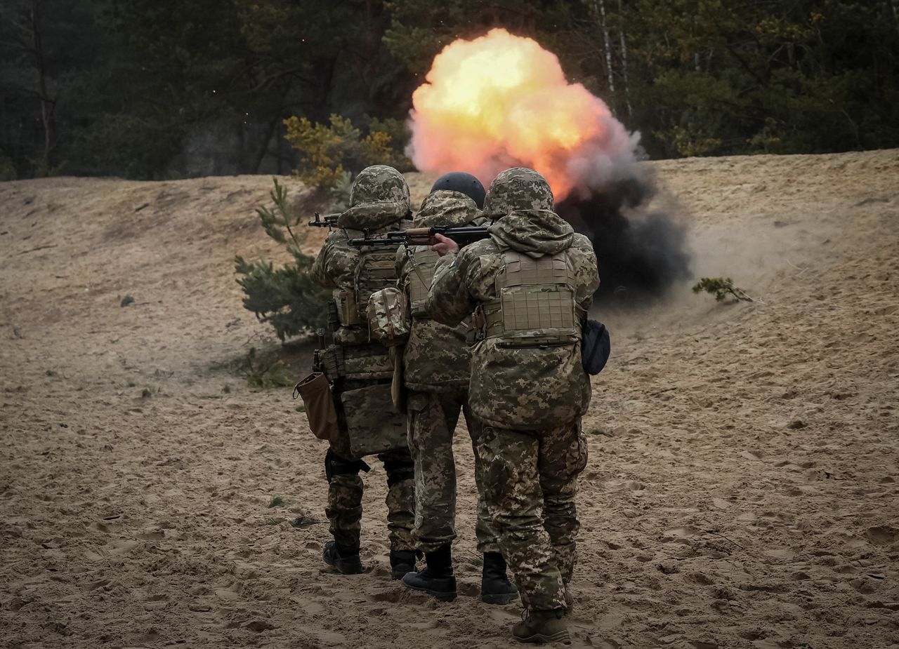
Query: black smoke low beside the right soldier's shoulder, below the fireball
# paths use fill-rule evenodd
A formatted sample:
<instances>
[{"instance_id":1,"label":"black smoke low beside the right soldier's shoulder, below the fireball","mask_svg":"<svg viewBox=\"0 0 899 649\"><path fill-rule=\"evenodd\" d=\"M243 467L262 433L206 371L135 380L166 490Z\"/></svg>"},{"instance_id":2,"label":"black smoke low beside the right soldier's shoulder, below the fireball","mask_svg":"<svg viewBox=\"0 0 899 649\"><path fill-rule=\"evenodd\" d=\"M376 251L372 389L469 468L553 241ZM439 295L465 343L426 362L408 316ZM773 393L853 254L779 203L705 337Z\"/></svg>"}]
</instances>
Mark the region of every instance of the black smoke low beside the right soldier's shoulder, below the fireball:
<instances>
[{"instance_id":1,"label":"black smoke low beside the right soldier's shoulder, below the fireball","mask_svg":"<svg viewBox=\"0 0 899 649\"><path fill-rule=\"evenodd\" d=\"M651 302L690 278L686 226L647 208L654 193L652 180L631 178L556 205L556 213L593 243L600 267L598 303Z\"/></svg>"}]
</instances>

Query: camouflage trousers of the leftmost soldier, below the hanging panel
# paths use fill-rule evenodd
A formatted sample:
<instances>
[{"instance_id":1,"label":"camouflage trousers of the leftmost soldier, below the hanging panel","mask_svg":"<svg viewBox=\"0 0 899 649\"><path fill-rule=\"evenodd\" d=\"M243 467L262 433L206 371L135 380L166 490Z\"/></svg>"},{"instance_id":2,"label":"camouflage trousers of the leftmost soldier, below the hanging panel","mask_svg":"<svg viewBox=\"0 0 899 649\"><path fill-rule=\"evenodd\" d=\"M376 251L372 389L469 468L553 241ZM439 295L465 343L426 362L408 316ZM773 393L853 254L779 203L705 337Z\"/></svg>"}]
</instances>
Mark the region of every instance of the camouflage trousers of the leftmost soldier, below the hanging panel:
<instances>
[{"instance_id":1,"label":"camouflage trousers of the leftmost soldier, below the hanging panel","mask_svg":"<svg viewBox=\"0 0 899 649\"><path fill-rule=\"evenodd\" d=\"M345 381L343 390L355 390L370 385L365 381ZM335 395L336 397L336 395ZM335 398L337 424L346 431L346 418L340 399ZM325 516L330 522L334 540L342 546L358 548L362 520L362 492L364 483L359 475L360 461L346 460L341 455L345 444L332 443L325 458L328 476L328 504ZM394 449L378 454L387 473L387 530L392 550L413 550L412 528L415 518L415 483L413 461L409 449ZM327 465L331 466L328 467ZM336 469L335 469L336 467Z\"/></svg>"}]
</instances>

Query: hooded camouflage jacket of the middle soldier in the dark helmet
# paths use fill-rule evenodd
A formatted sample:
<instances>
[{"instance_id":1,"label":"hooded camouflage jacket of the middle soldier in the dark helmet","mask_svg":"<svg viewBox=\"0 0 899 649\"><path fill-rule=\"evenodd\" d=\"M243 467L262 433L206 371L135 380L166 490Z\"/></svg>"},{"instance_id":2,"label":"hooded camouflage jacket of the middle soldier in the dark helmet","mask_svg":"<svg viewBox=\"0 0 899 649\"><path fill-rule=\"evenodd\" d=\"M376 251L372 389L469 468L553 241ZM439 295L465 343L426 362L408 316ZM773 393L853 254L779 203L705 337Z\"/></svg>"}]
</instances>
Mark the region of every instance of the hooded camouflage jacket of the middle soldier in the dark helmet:
<instances>
[{"instance_id":1,"label":"hooded camouflage jacket of the middle soldier in the dark helmet","mask_svg":"<svg viewBox=\"0 0 899 649\"><path fill-rule=\"evenodd\" d=\"M440 190L424 199L421 211L415 215L414 227L479 225L484 221L471 198L457 191ZM421 258L429 251L428 246L396 251L397 286L405 293L407 302L413 274L422 273L425 280L433 275L433 267L414 263L416 253ZM467 388L471 374L471 353L466 339L470 324L470 318L466 318L455 327L448 327L427 316L413 315L403 355L405 387L425 392Z\"/></svg>"}]
</instances>

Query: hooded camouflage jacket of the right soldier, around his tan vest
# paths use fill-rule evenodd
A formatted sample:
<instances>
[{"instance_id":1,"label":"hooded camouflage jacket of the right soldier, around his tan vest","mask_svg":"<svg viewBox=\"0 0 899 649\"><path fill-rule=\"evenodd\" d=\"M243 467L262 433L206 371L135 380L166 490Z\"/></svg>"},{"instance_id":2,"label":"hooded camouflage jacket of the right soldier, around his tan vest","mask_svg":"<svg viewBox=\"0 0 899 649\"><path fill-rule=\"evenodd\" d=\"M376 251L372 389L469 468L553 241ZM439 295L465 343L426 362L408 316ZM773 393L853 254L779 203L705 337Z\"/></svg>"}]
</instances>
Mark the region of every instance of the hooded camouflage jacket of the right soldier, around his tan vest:
<instances>
[{"instance_id":1,"label":"hooded camouflage jacket of the right soldier, around his tan vest","mask_svg":"<svg viewBox=\"0 0 899 649\"><path fill-rule=\"evenodd\" d=\"M580 317L585 317L600 284L590 240L547 209L516 209L491 226L490 239L441 258L427 300L432 318L454 325L479 303L494 302L507 250L535 259L565 250L574 275L574 299ZM518 430L564 425L586 412L590 397L579 341L509 347L501 346L498 338L485 338L473 347L469 405L487 424Z\"/></svg>"}]
</instances>

